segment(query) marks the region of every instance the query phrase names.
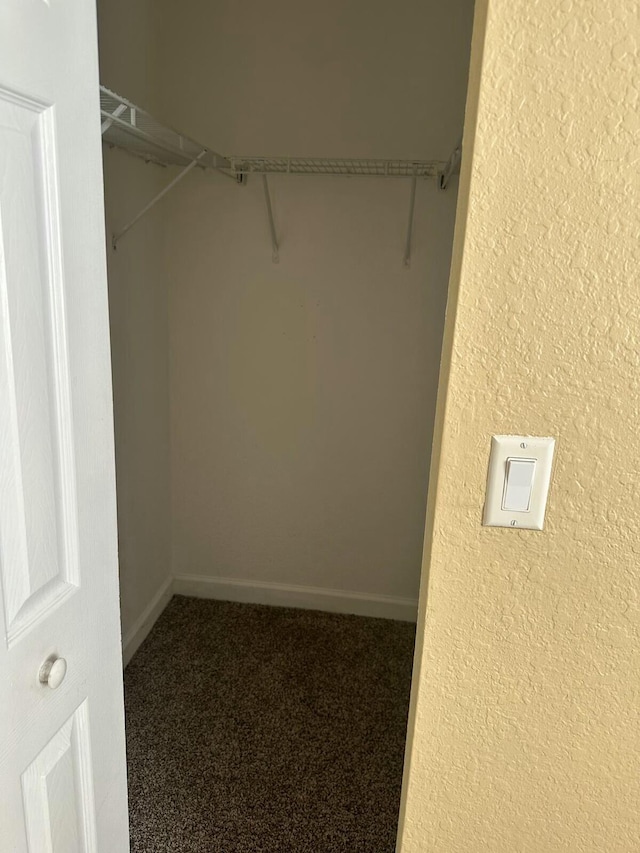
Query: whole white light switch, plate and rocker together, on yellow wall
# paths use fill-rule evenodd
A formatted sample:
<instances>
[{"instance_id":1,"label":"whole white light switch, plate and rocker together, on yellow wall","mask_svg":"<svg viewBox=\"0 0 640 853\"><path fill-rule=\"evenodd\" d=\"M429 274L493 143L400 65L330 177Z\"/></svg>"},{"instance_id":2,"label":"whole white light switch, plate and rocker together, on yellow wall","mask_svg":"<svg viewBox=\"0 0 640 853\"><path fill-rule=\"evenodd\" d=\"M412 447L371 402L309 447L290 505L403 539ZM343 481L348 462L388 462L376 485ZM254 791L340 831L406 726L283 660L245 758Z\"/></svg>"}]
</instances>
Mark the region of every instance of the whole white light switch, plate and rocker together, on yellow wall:
<instances>
[{"instance_id":1,"label":"whole white light switch, plate and rocker together, on yellow wall","mask_svg":"<svg viewBox=\"0 0 640 853\"><path fill-rule=\"evenodd\" d=\"M554 448L554 438L492 437L485 526L542 530Z\"/></svg>"}]
</instances>

